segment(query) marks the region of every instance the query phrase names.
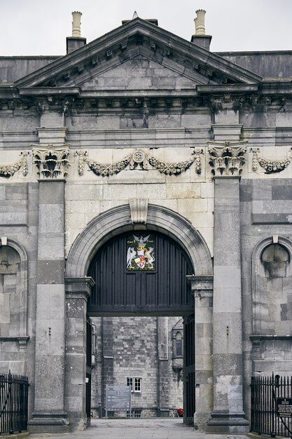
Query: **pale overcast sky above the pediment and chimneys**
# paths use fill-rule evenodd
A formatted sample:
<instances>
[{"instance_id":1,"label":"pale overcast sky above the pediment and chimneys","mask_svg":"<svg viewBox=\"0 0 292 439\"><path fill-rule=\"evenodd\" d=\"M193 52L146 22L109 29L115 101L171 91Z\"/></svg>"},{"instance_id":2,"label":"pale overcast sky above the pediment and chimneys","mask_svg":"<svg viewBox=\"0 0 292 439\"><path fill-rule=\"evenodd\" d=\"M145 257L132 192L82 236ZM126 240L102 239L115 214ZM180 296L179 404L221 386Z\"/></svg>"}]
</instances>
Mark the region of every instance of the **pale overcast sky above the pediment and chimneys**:
<instances>
[{"instance_id":1,"label":"pale overcast sky above the pediment and chimneys","mask_svg":"<svg viewBox=\"0 0 292 439\"><path fill-rule=\"evenodd\" d=\"M211 50L292 50L292 0L0 0L0 56L64 55L72 11L90 42L131 19L158 25L190 41L195 11L205 9Z\"/></svg>"}]
</instances>

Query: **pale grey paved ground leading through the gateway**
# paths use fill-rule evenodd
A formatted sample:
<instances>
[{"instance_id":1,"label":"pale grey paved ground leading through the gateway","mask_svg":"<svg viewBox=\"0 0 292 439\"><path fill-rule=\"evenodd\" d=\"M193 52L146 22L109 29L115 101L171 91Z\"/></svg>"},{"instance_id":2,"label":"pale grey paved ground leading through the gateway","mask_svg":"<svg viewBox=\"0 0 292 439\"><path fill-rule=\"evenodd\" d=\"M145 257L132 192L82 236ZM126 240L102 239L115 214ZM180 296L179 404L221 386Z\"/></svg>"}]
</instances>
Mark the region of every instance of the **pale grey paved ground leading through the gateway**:
<instances>
[{"instance_id":1,"label":"pale grey paved ground leading through the gateway","mask_svg":"<svg viewBox=\"0 0 292 439\"><path fill-rule=\"evenodd\" d=\"M27 439L246 439L248 435L209 435L174 419L93 419L90 428L71 434L32 434Z\"/></svg>"}]
</instances>

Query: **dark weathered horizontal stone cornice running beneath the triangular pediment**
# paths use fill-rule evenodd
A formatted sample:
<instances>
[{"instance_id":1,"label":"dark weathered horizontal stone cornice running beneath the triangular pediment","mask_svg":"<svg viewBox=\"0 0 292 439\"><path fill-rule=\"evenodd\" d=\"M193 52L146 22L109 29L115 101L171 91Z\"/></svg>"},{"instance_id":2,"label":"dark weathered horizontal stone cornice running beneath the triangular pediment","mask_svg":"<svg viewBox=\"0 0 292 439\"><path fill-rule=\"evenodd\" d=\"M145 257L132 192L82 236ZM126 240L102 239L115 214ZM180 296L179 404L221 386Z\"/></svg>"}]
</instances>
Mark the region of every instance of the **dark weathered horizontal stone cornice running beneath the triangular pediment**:
<instances>
[{"instance_id":1,"label":"dark weathered horizontal stone cornice running beneath the triangular pediment","mask_svg":"<svg viewBox=\"0 0 292 439\"><path fill-rule=\"evenodd\" d=\"M234 111L253 112L256 108L286 109L292 106L291 84L280 82L258 88L258 85L211 84L184 90L84 90L79 87L5 88L0 86L0 111L12 112L118 112L130 109L153 112L190 110L218 112L231 106Z\"/></svg>"}]
</instances>

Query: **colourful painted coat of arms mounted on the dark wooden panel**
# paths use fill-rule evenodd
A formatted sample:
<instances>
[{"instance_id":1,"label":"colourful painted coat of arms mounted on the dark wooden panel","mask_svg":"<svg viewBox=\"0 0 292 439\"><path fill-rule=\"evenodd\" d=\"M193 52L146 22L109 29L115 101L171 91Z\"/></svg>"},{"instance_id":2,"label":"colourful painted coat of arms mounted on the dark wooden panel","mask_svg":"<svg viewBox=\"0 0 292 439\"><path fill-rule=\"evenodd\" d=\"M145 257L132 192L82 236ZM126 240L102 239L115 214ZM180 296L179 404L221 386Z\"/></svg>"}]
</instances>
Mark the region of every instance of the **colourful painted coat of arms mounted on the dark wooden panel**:
<instances>
[{"instance_id":1,"label":"colourful painted coat of arms mounted on the dark wooden panel","mask_svg":"<svg viewBox=\"0 0 292 439\"><path fill-rule=\"evenodd\" d=\"M153 235L127 237L127 270L155 270Z\"/></svg>"}]
</instances>

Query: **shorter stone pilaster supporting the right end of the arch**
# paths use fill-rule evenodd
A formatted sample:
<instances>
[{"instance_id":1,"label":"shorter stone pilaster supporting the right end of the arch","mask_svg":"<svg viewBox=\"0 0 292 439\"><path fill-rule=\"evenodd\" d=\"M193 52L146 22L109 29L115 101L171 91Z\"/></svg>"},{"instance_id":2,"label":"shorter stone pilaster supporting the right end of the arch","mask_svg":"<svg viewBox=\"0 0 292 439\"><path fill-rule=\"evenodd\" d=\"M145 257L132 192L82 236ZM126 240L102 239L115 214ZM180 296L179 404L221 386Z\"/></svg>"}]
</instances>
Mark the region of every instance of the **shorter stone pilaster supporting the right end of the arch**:
<instances>
[{"instance_id":1,"label":"shorter stone pilaster supporting the right end of the arch","mask_svg":"<svg viewBox=\"0 0 292 439\"><path fill-rule=\"evenodd\" d=\"M213 276L187 276L195 299L195 416L204 430L213 410Z\"/></svg>"}]
</instances>

